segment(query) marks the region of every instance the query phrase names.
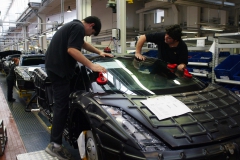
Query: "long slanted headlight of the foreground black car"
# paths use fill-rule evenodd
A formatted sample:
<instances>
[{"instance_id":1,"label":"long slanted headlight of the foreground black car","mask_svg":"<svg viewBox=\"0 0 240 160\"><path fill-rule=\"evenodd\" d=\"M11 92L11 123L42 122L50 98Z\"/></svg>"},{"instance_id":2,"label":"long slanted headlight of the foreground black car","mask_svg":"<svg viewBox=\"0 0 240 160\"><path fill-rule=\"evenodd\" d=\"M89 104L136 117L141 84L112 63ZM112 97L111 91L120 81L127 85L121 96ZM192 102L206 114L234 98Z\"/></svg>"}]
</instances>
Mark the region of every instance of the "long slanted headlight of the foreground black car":
<instances>
[{"instance_id":1,"label":"long slanted headlight of the foreground black car","mask_svg":"<svg viewBox=\"0 0 240 160\"><path fill-rule=\"evenodd\" d=\"M135 139L143 152L168 150L168 147L161 140L126 112L112 106L102 105L102 107L115 118L127 134Z\"/></svg>"}]
</instances>

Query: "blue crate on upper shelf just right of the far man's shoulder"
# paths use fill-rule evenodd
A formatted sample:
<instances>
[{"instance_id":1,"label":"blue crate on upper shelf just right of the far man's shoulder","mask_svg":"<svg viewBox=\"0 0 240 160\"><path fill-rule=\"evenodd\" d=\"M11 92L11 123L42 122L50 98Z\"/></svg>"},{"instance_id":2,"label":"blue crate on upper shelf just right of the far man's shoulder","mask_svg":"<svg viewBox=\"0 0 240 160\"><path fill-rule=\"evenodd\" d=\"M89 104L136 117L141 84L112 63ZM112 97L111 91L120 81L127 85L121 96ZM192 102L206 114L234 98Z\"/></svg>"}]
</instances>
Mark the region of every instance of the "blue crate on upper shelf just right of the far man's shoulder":
<instances>
[{"instance_id":1,"label":"blue crate on upper shelf just right of the far man's shoulder","mask_svg":"<svg viewBox=\"0 0 240 160\"><path fill-rule=\"evenodd\" d=\"M197 55L188 59L188 62L211 62L212 52L199 52Z\"/></svg>"}]
</instances>

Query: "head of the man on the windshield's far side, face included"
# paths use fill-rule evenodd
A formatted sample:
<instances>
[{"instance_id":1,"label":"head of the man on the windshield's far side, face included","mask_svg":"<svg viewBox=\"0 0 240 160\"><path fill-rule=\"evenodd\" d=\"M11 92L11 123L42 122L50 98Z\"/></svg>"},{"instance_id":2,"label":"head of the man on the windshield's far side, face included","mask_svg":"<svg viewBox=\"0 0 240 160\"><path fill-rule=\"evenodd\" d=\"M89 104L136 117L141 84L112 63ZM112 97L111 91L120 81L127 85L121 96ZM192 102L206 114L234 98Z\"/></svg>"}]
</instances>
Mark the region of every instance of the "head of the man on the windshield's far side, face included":
<instances>
[{"instance_id":1,"label":"head of the man on the windshield's far side, face included","mask_svg":"<svg viewBox=\"0 0 240 160\"><path fill-rule=\"evenodd\" d=\"M175 24L167 27L165 32L165 42L173 43L174 41L180 41L182 36L182 28L180 25Z\"/></svg>"}]
</instances>

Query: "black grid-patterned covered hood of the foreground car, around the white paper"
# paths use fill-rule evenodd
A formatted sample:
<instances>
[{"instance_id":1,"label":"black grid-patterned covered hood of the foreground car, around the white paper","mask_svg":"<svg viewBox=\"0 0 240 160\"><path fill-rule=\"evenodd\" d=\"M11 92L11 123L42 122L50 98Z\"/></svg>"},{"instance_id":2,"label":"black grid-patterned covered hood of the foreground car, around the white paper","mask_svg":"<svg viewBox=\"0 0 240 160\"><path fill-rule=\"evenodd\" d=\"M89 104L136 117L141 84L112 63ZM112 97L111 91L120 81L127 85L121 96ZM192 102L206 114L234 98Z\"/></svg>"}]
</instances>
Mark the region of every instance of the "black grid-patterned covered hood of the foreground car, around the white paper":
<instances>
[{"instance_id":1,"label":"black grid-patterned covered hood of the foreground car, around the white paper","mask_svg":"<svg viewBox=\"0 0 240 160\"><path fill-rule=\"evenodd\" d=\"M227 89L210 84L202 91L172 96L193 112L158 120L141 102L151 96L114 94L97 96L95 100L121 108L172 148L205 145L240 135L240 98Z\"/></svg>"}]
</instances>

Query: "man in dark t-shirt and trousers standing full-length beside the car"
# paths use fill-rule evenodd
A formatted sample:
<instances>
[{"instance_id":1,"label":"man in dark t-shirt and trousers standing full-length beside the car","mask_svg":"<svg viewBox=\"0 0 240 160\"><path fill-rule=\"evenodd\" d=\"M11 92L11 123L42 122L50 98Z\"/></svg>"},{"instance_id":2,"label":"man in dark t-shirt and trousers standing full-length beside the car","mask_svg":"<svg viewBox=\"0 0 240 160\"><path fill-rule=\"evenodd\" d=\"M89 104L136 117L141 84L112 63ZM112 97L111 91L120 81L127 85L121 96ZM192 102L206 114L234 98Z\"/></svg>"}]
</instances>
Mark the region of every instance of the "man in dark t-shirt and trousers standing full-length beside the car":
<instances>
[{"instance_id":1,"label":"man in dark t-shirt and trousers standing full-length beside the car","mask_svg":"<svg viewBox=\"0 0 240 160\"><path fill-rule=\"evenodd\" d=\"M45 151L61 160L71 159L71 154L62 146L62 135L68 114L70 80L77 61L95 72L107 72L104 67L89 61L81 49L102 57L113 57L112 54L104 53L84 41L85 36L97 36L100 30L101 21L95 16L86 17L82 21L73 20L64 24L54 34L46 51L45 67L52 82L54 105L50 143Z\"/></svg>"}]
</instances>

